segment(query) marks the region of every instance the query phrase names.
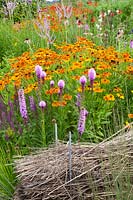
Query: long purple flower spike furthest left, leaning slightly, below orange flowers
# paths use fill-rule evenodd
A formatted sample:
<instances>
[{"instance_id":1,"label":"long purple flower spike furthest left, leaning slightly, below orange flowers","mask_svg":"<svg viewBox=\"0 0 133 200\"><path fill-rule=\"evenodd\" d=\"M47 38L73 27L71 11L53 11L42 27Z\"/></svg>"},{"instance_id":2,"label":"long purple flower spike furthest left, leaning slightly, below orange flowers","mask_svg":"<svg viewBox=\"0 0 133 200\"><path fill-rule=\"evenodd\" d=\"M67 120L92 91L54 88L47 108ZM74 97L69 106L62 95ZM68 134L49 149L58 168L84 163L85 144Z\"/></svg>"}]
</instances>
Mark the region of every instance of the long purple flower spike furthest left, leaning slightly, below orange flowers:
<instances>
[{"instance_id":1,"label":"long purple flower spike furthest left, leaning slightly, below orange flowers","mask_svg":"<svg viewBox=\"0 0 133 200\"><path fill-rule=\"evenodd\" d=\"M21 116L22 116L23 119L27 120L28 115L27 115L26 101L25 101L23 89L19 89L19 91L18 91L18 100L19 100L19 107L20 107Z\"/></svg>"}]
</instances>

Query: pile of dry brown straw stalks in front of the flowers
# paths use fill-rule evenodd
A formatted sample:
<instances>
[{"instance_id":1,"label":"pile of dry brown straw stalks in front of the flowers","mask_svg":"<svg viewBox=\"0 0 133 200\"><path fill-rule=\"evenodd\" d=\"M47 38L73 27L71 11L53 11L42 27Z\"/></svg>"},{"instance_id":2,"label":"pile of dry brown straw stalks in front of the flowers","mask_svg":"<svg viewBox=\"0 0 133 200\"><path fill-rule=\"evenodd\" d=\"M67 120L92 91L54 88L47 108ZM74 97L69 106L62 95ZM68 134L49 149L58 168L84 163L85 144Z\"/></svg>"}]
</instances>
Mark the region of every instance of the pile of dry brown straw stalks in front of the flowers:
<instances>
[{"instance_id":1,"label":"pile of dry brown straw stalks in front of the flowers","mask_svg":"<svg viewBox=\"0 0 133 200\"><path fill-rule=\"evenodd\" d=\"M130 199L133 129L98 145L72 145L71 180L65 144L23 157L15 164L20 184L14 200L116 200L116 185L123 187L125 198L121 199L127 199L125 195Z\"/></svg>"}]
</instances>

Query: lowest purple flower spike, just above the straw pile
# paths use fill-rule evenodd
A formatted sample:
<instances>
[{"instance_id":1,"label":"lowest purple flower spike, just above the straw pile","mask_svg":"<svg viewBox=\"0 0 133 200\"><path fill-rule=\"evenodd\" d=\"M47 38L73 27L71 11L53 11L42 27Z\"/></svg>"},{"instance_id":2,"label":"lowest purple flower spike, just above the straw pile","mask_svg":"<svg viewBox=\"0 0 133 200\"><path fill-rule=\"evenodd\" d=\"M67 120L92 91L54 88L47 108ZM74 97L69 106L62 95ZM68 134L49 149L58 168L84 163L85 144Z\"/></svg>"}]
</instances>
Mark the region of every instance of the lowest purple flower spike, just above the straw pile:
<instances>
[{"instance_id":1,"label":"lowest purple flower spike, just above the straw pile","mask_svg":"<svg viewBox=\"0 0 133 200\"><path fill-rule=\"evenodd\" d=\"M88 111L85 108L80 110L79 122L78 122L78 132L81 136L85 130L85 121L88 115Z\"/></svg>"}]
</instances>

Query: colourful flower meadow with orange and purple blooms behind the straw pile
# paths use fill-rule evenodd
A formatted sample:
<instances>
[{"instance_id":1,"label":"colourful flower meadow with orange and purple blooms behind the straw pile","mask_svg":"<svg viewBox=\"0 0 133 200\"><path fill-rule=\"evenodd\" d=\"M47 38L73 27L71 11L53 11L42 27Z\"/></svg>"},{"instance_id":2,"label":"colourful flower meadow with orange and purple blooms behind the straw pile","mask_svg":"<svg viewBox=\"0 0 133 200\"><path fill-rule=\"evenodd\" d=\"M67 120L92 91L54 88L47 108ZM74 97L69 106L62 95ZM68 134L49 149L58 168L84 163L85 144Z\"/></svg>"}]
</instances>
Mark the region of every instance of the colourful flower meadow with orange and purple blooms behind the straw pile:
<instances>
[{"instance_id":1,"label":"colourful flower meadow with orange and purple blooms behind the straw pile","mask_svg":"<svg viewBox=\"0 0 133 200\"><path fill-rule=\"evenodd\" d=\"M2 0L0 13L0 199L9 200L14 157L69 133L73 144L99 144L130 129L133 3Z\"/></svg>"}]
</instances>

